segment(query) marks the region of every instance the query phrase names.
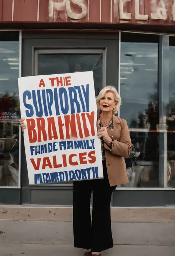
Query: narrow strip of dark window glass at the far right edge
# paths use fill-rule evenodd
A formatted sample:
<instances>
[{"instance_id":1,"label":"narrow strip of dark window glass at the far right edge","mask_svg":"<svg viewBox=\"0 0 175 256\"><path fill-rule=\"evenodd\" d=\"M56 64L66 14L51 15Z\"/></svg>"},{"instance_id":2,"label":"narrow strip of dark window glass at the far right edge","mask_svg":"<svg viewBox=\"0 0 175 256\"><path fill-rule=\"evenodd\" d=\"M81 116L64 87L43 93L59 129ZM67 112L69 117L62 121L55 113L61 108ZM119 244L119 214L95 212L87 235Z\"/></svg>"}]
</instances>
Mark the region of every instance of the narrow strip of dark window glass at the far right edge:
<instances>
[{"instance_id":1,"label":"narrow strip of dark window glass at the far right edge","mask_svg":"<svg viewBox=\"0 0 175 256\"><path fill-rule=\"evenodd\" d=\"M169 104L167 106L167 186L175 188L175 37L169 37Z\"/></svg>"}]
</instances>

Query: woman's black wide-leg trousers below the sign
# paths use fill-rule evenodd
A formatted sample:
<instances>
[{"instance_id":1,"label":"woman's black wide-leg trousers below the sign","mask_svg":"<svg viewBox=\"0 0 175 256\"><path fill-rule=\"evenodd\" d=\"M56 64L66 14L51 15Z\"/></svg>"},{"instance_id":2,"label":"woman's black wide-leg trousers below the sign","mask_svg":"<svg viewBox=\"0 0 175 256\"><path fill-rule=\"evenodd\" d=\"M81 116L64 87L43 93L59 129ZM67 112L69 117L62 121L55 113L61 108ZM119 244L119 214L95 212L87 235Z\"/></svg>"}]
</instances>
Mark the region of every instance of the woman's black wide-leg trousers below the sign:
<instances>
[{"instance_id":1,"label":"woman's black wide-leg trousers below the sign","mask_svg":"<svg viewBox=\"0 0 175 256\"><path fill-rule=\"evenodd\" d=\"M110 187L106 161L103 161L104 179L73 182L73 234L77 248L101 252L113 247L111 232ZM90 197L93 192L92 221Z\"/></svg>"}]
</instances>

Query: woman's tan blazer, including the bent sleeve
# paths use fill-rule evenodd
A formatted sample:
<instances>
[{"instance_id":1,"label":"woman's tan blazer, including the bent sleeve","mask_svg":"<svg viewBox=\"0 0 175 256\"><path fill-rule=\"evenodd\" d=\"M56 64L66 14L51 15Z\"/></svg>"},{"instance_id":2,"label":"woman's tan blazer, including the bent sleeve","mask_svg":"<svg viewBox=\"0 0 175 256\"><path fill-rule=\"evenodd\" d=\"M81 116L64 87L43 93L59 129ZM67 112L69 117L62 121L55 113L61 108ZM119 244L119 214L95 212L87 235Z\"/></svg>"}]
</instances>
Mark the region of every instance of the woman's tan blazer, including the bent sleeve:
<instances>
[{"instance_id":1,"label":"woman's tan blazer, including the bent sleeve","mask_svg":"<svg viewBox=\"0 0 175 256\"><path fill-rule=\"evenodd\" d=\"M109 136L114 138L111 151L107 144L104 143L110 186L128 183L124 157L128 157L131 152L131 138L126 120L113 115L113 126L114 131L107 128Z\"/></svg>"}]
</instances>

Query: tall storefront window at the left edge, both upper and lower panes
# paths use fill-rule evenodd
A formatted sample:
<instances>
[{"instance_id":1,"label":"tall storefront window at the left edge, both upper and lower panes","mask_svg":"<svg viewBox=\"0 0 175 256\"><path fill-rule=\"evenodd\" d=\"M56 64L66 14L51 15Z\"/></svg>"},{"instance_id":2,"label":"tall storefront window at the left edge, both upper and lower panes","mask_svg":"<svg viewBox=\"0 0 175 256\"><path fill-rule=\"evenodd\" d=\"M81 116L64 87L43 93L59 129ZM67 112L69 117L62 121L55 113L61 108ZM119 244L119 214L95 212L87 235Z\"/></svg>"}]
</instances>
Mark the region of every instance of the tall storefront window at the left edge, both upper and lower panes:
<instances>
[{"instance_id":1,"label":"tall storefront window at the left edge, both upper and lower panes","mask_svg":"<svg viewBox=\"0 0 175 256\"><path fill-rule=\"evenodd\" d=\"M19 32L0 32L0 188L19 186Z\"/></svg>"}]
</instances>

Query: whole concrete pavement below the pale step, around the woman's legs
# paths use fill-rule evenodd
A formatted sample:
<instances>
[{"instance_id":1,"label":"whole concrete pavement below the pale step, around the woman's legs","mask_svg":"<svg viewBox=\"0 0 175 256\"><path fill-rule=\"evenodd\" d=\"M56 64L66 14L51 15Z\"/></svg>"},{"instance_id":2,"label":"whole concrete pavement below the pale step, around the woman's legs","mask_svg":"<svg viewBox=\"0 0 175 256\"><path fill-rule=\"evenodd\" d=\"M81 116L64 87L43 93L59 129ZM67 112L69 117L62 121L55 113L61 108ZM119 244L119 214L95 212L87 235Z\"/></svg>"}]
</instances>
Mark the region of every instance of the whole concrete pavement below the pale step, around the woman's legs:
<instances>
[{"instance_id":1,"label":"whole concrete pavement below the pale step, around the woman's legs","mask_svg":"<svg viewBox=\"0 0 175 256\"><path fill-rule=\"evenodd\" d=\"M175 223L112 223L114 248L103 256L174 256ZM82 234L83 235L83 234ZM0 256L83 256L72 222L0 221Z\"/></svg>"}]
</instances>

